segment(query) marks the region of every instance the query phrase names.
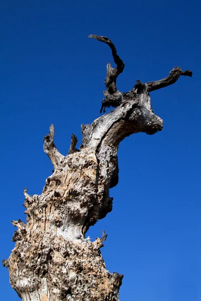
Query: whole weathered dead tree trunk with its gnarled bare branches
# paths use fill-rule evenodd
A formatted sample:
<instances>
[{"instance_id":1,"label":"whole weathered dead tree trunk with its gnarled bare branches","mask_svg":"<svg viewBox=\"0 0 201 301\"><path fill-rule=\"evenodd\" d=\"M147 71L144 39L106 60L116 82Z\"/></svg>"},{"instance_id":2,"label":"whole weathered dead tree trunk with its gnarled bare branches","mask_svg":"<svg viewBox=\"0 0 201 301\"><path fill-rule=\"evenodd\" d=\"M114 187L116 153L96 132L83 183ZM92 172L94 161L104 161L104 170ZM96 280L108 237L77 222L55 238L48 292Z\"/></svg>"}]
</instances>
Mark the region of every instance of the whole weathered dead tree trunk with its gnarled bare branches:
<instances>
[{"instance_id":1,"label":"whole weathered dead tree trunk with its gnarled bare branches","mask_svg":"<svg viewBox=\"0 0 201 301\"><path fill-rule=\"evenodd\" d=\"M41 195L24 191L27 223L13 221L16 246L3 264L9 268L12 287L23 301L115 301L123 275L110 273L100 248L106 239L91 242L85 233L91 225L112 210L110 188L118 184L119 143L125 137L162 130L163 120L154 114L150 92L175 83L180 76L192 76L190 70L175 67L161 80L142 83L122 93L116 80L124 63L107 37L91 35L109 45L117 65L107 65L105 99L102 110L108 114L81 126L82 144L71 137L67 156L54 144L54 126L44 138L44 151L50 158L53 174L47 178Z\"/></svg>"}]
</instances>

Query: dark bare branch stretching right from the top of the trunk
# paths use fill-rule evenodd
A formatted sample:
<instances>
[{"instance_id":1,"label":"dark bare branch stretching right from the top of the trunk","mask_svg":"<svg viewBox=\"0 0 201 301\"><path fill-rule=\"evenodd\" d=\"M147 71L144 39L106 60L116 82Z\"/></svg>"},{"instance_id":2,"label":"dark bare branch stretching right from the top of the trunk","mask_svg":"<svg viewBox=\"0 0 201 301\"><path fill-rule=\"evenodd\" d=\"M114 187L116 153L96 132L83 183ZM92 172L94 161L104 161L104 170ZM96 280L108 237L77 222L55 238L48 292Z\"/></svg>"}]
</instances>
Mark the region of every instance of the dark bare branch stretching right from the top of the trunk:
<instances>
[{"instance_id":1,"label":"dark bare branch stretching right from the top of the trunk","mask_svg":"<svg viewBox=\"0 0 201 301\"><path fill-rule=\"evenodd\" d=\"M171 71L169 76L162 78L161 80L157 80L157 81L153 81L153 82L148 82L147 86L148 86L148 91L154 91L154 90L158 90L164 87L167 87L169 85L174 84L179 77L183 75L183 76L192 76L192 71L190 70L186 70L184 72L182 72L181 68L179 67L174 67Z\"/></svg>"}]
</instances>

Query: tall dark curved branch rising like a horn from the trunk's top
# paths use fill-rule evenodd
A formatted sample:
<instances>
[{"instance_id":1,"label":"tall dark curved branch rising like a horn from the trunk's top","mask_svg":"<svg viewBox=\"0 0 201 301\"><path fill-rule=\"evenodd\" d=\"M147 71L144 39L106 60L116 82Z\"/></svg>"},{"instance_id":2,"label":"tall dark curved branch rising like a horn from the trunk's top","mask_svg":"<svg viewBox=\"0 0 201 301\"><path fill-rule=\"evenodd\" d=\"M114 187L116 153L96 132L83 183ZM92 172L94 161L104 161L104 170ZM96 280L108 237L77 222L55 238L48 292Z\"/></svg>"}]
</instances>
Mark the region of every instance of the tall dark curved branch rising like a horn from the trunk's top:
<instances>
[{"instance_id":1,"label":"tall dark curved branch rising like a horn from the trunk's top","mask_svg":"<svg viewBox=\"0 0 201 301\"><path fill-rule=\"evenodd\" d=\"M95 35L89 35L88 37L109 45L112 50L114 62L117 65L116 68L113 68L111 64L107 64L107 75L105 79L106 91L104 92L106 99L102 100L102 107L100 109L100 113L102 113L102 110L105 112L106 107L113 106L116 108L122 102L122 93L117 89L116 80L118 75L123 72L125 64L118 56L115 45L109 38Z\"/></svg>"}]
</instances>

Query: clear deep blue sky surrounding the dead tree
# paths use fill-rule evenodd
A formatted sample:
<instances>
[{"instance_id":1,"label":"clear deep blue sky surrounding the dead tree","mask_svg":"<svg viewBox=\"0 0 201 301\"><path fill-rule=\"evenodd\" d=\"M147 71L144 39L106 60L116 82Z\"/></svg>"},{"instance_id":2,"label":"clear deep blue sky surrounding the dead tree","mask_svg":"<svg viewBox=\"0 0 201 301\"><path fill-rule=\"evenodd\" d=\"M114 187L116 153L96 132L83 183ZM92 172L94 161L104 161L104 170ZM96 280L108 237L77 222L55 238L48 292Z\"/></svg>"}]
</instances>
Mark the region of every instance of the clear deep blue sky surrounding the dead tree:
<instances>
[{"instance_id":1,"label":"clear deep blue sky surrounding the dead tree","mask_svg":"<svg viewBox=\"0 0 201 301\"><path fill-rule=\"evenodd\" d=\"M120 300L198 301L200 290L200 2L1 1L1 249L15 243L11 220L25 221L23 190L41 194L52 165L43 137L55 125L65 155L71 133L97 118L105 90L109 47L125 62L121 91L191 69L151 93L164 130L126 138L119 148L120 181L112 213L88 231L105 229L102 249L110 272L124 274ZM1 300L19 300L0 267Z\"/></svg>"}]
</instances>

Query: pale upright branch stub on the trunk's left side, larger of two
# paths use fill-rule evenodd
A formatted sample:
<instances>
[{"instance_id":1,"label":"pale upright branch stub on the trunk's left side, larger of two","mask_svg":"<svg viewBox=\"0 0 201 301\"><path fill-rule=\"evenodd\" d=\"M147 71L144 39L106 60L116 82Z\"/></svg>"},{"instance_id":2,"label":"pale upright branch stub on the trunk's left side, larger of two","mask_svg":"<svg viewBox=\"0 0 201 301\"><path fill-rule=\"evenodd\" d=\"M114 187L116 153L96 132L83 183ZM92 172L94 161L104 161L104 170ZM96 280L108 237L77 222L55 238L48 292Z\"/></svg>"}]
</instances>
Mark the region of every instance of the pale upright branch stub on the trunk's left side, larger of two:
<instances>
[{"instance_id":1,"label":"pale upright branch stub on the trunk's left side, larger of two","mask_svg":"<svg viewBox=\"0 0 201 301\"><path fill-rule=\"evenodd\" d=\"M54 168L57 169L65 157L59 153L59 151L57 150L57 148L54 144L54 125L53 124L50 125L49 134L44 137L43 141L44 141L44 145L43 145L44 152L50 158Z\"/></svg>"}]
</instances>

